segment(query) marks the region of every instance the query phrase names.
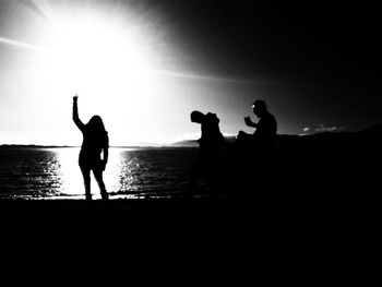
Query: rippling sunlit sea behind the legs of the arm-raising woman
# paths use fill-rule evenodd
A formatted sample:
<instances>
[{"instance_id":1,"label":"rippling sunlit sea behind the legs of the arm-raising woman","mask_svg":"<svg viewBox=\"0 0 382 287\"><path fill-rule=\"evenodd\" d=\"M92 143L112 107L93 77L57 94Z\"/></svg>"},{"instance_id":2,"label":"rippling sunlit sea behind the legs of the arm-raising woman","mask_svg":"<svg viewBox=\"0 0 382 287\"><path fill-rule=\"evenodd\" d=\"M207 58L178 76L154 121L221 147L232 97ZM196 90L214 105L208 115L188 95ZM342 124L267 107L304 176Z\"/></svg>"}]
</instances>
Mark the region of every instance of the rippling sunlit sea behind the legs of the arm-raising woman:
<instances>
[{"instance_id":1,"label":"rippling sunlit sea behind the legs of the arm-raising woman","mask_svg":"<svg viewBox=\"0 0 382 287\"><path fill-rule=\"evenodd\" d=\"M77 147L0 148L0 199L84 199ZM109 150L104 181L110 199L183 194L198 148ZM203 183L201 183L203 184ZM99 189L92 175L93 199Z\"/></svg>"}]
</instances>

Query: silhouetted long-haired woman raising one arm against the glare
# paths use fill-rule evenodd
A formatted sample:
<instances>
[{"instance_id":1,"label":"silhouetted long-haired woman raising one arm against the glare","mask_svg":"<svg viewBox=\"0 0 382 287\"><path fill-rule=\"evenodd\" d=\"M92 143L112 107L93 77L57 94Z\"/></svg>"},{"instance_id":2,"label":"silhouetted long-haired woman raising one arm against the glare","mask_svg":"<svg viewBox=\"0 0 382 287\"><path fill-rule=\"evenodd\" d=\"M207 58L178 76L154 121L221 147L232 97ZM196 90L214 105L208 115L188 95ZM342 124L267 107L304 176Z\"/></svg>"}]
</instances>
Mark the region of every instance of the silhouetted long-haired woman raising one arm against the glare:
<instances>
[{"instance_id":1,"label":"silhouetted long-haired woman raising one arm against the glare","mask_svg":"<svg viewBox=\"0 0 382 287\"><path fill-rule=\"evenodd\" d=\"M105 130L104 122L99 116L93 116L91 120L84 124L79 117L77 107L79 96L73 97L73 121L83 135L83 142L80 151L79 165L85 184L85 198L92 200L91 193L91 170L93 170L100 195L103 200L108 200L108 193L103 180L103 171L108 160L109 137ZM103 159L100 154L103 153Z\"/></svg>"}]
</instances>

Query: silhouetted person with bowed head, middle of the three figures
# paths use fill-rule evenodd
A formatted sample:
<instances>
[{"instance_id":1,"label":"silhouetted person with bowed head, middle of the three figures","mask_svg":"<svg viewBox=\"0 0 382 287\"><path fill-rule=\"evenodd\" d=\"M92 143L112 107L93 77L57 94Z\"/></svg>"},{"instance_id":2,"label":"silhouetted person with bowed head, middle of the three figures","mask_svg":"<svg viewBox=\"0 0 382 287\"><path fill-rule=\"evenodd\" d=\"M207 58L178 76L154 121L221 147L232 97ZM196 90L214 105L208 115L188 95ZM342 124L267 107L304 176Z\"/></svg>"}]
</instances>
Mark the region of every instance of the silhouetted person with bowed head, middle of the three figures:
<instances>
[{"instance_id":1,"label":"silhouetted person with bowed head, middle of the three figures","mask_svg":"<svg viewBox=\"0 0 382 287\"><path fill-rule=\"evenodd\" d=\"M224 145L224 136L218 125L219 119L216 113L208 112L204 115L198 110L192 111L190 117L191 122L201 124L201 137L198 140L199 155L191 170L187 196L192 196L198 180L201 176L205 176L210 195L216 198L216 164Z\"/></svg>"}]
</instances>

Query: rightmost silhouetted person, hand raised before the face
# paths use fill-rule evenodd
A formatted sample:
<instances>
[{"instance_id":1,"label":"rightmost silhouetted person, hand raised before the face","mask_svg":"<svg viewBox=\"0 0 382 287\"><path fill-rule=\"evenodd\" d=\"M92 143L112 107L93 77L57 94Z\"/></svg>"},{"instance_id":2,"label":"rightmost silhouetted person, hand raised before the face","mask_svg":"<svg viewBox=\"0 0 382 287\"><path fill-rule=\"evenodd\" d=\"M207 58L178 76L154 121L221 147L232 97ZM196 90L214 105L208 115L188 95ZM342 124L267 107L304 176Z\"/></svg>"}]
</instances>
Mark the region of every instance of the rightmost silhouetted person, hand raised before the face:
<instances>
[{"instance_id":1,"label":"rightmost silhouetted person, hand raised before the face","mask_svg":"<svg viewBox=\"0 0 382 287\"><path fill-rule=\"evenodd\" d=\"M251 179L249 187L254 182L266 183L273 180L275 174L275 143L277 133L277 121L267 110L265 101L258 99L252 105L254 115L260 119L256 123L250 117L244 117L248 127L254 128L253 134L240 131L235 151L239 157L241 176ZM256 184L259 186L259 184Z\"/></svg>"}]
</instances>

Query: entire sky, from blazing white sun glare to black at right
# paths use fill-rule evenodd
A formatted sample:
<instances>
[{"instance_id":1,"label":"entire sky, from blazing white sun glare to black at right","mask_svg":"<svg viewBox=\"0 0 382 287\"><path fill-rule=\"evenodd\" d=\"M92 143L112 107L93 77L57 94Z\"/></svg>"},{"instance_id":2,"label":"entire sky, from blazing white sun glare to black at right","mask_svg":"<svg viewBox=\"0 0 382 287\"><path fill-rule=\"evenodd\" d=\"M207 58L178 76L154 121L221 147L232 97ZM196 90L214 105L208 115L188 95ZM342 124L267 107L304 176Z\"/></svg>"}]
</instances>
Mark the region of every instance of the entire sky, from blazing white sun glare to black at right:
<instances>
[{"instance_id":1,"label":"entire sky, from blazing white sun glare to black at right","mask_svg":"<svg viewBox=\"0 0 382 287\"><path fill-rule=\"evenodd\" d=\"M382 118L379 38L363 2L1 0L0 143L76 143L74 93L116 145L194 136L194 109L250 132L258 98L278 133L360 130Z\"/></svg>"}]
</instances>

